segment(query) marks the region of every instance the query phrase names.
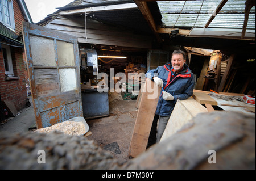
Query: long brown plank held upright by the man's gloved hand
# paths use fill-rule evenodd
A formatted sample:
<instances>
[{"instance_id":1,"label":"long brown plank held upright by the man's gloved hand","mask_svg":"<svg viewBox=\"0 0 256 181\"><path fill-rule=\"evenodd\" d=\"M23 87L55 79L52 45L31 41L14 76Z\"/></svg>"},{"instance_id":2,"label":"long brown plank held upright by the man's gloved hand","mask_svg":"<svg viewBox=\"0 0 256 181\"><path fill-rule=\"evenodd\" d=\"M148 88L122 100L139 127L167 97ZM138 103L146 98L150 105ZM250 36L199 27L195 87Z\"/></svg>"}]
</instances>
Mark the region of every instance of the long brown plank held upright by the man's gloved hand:
<instances>
[{"instance_id":1,"label":"long brown plank held upright by the man's gloved hand","mask_svg":"<svg viewBox=\"0 0 256 181\"><path fill-rule=\"evenodd\" d=\"M144 92L142 92L141 105L139 106L137 119L134 125L133 136L129 148L128 157L135 158L146 150L148 137L155 116L159 99L160 87L151 79L146 78Z\"/></svg>"}]
</instances>

